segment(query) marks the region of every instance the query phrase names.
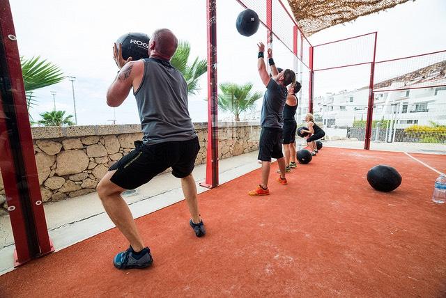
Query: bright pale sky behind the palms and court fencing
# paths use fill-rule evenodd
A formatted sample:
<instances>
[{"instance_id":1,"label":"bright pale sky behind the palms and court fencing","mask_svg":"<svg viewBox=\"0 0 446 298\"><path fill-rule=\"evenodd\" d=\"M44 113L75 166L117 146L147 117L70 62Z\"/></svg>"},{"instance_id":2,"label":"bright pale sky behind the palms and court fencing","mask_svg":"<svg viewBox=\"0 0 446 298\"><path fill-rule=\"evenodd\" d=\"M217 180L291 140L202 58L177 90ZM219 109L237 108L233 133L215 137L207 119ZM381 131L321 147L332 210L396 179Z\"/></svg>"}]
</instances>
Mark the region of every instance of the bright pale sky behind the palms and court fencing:
<instances>
[{"instance_id":1,"label":"bright pale sky behind the palms and court fencing","mask_svg":"<svg viewBox=\"0 0 446 298\"><path fill-rule=\"evenodd\" d=\"M155 29L164 27L174 31L180 40L190 42L191 58L206 58L206 1L129 0L123 4L122 1L112 0L107 1L107 8L104 8L104 3L86 0L10 0L20 55L46 58L59 65L65 75L77 78L74 87L79 125L111 124L114 119L117 124L139 123L132 93L121 107L114 109L105 103L107 88L118 70L112 58L113 42L123 33L144 32L150 36ZM235 0L217 1L217 79L219 84L251 82L254 91L263 92L265 89L256 70L256 43L265 42L266 29L261 26L249 38L238 34L235 21L242 10ZM445 15L444 0L409 1L387 11L360 17L355 22L332 26L310 36L309 41L318 45L378 31L378 61L435 52L446 49L446 38L441 33L446 28ZM283 24L282 32L289 23L284 21ZM357 42L353 47L346 47L346 50L359 56L357 53L364 53L367 42L369 40ZM284 68L292 68L293 56L289 49L275 41L273 50L277 65L289 64ZM331 51L323 53L328 56L324 58L321 54L320 61L330 61ZM399 67L403 69L407 65ZM330 75L329 72L316 74L316 78L320 78L316 85L319 86L318 92L360 88L364 81L367 84L364 72L367 73L367 70L357 68L342 76L339 73ZM194 122L207 120L206 79L204 75L199 93L189 97L190 116ZM39 113L52 111L50 91L56 91L56 109L74 115L72 85L67 79L36 91L38 105L31 109L33 118L38 120ZM307 91L302 88L302 92ZM256 113L259 113L260 107L261 100L257 102ZM231 116L219 112L219 118L230 120Z\"/></svg>"}]
</instances>

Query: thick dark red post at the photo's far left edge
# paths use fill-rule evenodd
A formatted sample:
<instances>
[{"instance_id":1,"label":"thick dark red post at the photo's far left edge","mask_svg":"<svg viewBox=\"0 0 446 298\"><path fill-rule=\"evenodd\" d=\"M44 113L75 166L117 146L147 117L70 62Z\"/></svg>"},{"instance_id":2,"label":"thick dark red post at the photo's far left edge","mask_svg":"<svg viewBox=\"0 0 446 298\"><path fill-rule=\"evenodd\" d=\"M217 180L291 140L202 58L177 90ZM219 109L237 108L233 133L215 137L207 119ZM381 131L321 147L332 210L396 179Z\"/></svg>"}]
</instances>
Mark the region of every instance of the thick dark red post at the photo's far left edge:
<instances>
[{"instance_id":1,"label":"thick dark red post at the photo's far left edge","mask_svg":"<svg viewBox=\"0 0 446 298\"><path fill-rule=\"evenodd\" d=\"M40 194L13 15L8 0L0 3L0 168L17 266L54 247Z\"/></svg>"}]
</instances>

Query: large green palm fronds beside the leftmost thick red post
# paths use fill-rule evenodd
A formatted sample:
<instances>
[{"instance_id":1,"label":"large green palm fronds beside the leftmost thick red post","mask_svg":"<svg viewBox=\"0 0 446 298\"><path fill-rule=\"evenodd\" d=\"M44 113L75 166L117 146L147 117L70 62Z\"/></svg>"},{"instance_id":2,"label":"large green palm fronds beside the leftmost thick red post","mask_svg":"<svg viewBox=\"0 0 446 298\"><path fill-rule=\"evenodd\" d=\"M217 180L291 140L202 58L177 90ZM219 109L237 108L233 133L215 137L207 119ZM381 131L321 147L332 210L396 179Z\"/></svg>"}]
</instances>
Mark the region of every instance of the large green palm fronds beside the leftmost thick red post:
<instances>
[{"instance_id":1,"label":"large green palm fronds beside the leftmost thick red post","mask_svg":"<svg viewBox=\"0 0 446 298\"><path fill-rule=\"evenodd\" d=\"M20 57L20 64L22 65L28 109L36 104L36 96L33 95L34 90L57 84L65 79L62 70L57 65L41 59L40 56L27 59L22 56Z\"/></svg>"}]
</instances>

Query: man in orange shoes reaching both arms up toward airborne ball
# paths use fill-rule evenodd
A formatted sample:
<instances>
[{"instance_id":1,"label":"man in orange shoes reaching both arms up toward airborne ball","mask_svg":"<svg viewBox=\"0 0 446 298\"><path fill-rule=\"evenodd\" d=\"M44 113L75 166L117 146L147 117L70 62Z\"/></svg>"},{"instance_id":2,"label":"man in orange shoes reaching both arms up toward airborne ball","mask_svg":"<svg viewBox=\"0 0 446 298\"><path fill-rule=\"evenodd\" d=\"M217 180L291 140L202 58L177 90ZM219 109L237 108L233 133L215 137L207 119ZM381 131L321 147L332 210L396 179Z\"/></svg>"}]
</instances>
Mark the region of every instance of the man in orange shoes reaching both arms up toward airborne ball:
<instances>
[{"instance_id":1,"label":"man in orange shoes reaching both arms up toward airborne ball","mask_svg":"<svg viewBox=\"0 0 446 298\"><path fill-rule=\"evenodd\" d=\"M263 96L261 111L261 134L259 140L259 157L262 162L262 177L259 186L249 191L250 196L266 196L270 194L268 189L268 176L270 175L271 158L276 158L280 168L280 176L277 182L286 185L285 161L282 153L282 113L286 102L288 91L286 86L295 81L295 74L292 70L286 69L278 72L272 58L269 59L272 77L266 71L263 52L265 45L262 42L258 44L259 55L257 59L257 68L260 78L266 86L266 92ZM268 52L272 51L268 49ZM272 53L271 53L272 56Z\"/></svg>"}]
</instances>

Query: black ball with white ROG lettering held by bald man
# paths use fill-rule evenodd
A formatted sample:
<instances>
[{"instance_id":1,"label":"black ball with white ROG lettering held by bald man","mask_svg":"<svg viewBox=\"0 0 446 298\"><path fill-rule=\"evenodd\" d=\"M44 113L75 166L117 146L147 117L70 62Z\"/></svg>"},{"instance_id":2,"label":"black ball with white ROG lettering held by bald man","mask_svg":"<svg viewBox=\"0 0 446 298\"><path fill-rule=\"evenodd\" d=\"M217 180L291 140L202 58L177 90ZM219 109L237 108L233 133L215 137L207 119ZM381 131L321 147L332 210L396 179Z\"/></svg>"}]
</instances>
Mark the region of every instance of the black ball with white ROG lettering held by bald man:
<instances>
[{"instance_id":1,"label":"black ball with white ROG lettering held by bald man","mask_svg":"<svg viewBox=\"0 0 446 298\"><path fill-rule=\"evenodd\" d=\"M136 61L148 58L149 41L150 38L146 33L126 33L116 40L116 46L119 48L119 44L122 44L125 60L132 57L132 61Z\"/></svg>"}]
</instances>

